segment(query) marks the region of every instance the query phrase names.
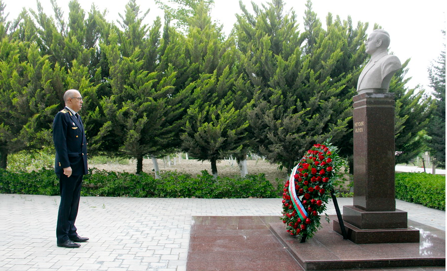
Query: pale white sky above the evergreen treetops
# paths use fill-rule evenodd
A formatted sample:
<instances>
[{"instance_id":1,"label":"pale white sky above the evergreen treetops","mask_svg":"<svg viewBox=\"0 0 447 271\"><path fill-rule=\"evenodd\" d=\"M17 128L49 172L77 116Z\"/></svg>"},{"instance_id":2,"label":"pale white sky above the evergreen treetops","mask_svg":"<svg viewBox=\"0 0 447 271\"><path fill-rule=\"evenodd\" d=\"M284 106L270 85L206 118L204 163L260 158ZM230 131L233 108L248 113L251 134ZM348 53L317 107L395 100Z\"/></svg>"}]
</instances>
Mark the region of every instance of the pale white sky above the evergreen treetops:
<instances>
[{"instance_id":1,"label":"pale white sky above the evergreen treetops","mask_svg":"<svg viewBox=\"0 0 447 271\"><path fill-rule=\"evenodd\" d=\"M68 16L69 0L56 0L62 8L65 18ZM115 21L119 19L118 14L124 14L127 1L110 0L78 0L81 7L90 11L92 3L100 10L107 9L106 19ZM251 2L261 7L267 4L267 0L242 0L243 4L252 12ZM17 18L24 9L37 10L36 0L3 0L6 4L5 13L9 13L8 20ZM166 3L167 1L165 1ZM299 30L304 31L303 17L306 9L306 0L284 0L285 10L293 9L297 15ZM44 12L53 14L50 0L40 0ZM154 0L136 0L141 11L150 9L145 23L152 25L154 19L160 16L163 19L163 12L158 9ZM239 0L214 0L214 7L211 11L211 18L223 26L223 32L229 34L236 23L235 14L241 14ZM410 4L411 3L411 4ZM445 30L445 1L424 0L313 0L313 11L322 22L326 22L326 16L331 13L335 18L337 15L346 20L351 17L353 25L357 22L369 23L367 33L371 33L375 23L386 30L391 38L389 51L393 52L403 63L411 59L407 68L407 77L412 79L407 84L408 88L415 88L417 85L430 92L427 69L439 57L442 50L445 50L445 38L441 30ZM163 20L162 20L163 21Z\"/></svg>"}]
</instances>

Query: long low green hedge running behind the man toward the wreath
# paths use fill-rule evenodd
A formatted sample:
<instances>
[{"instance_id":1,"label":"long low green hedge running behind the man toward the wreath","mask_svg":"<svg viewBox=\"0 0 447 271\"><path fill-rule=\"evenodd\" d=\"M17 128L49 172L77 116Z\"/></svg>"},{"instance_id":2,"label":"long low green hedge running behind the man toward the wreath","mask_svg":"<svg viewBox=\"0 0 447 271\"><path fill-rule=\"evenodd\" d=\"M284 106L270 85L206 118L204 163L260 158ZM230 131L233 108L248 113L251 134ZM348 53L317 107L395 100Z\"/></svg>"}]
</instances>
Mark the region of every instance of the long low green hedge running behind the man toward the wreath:
<instances>
[{"instance_id":1,"label":"long low green hedge running behind the man toward the wreath","mask_svg":"<svg viewBox=\"0 0 447 271\"><path fill-rule=\"evenodd\" d=\"M191 177L189 174L168 171L155 179L147 173L132 174L91 169L84 176L83 196L114 197L196 197L247 198L279 197L278 189L264 174L246 178L213 179L206 171ZM53 170L30 173L0 170L0 193L58 195L59 180Z\"/></svg>"}]
</instances>

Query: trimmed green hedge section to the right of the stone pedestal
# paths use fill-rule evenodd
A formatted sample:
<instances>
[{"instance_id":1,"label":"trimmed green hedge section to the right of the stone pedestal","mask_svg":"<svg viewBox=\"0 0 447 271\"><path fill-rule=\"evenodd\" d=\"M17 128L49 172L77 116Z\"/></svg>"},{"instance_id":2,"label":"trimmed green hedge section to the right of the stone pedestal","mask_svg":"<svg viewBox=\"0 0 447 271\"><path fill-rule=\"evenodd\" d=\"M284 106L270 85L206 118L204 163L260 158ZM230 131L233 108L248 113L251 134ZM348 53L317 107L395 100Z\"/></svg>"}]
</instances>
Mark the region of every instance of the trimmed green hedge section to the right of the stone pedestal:
<instances>
[{"instance_id":1,"label":"trimmed green hedge section to the right of the stone pedestal","mask_svg":"<svg viewBox=\"0 0 447 271\"><path fill-rule=\"evenodd\" d=\"M396 198L445 210L445 176L428 173L397 173Z\"/></svg>"}]
</instances>

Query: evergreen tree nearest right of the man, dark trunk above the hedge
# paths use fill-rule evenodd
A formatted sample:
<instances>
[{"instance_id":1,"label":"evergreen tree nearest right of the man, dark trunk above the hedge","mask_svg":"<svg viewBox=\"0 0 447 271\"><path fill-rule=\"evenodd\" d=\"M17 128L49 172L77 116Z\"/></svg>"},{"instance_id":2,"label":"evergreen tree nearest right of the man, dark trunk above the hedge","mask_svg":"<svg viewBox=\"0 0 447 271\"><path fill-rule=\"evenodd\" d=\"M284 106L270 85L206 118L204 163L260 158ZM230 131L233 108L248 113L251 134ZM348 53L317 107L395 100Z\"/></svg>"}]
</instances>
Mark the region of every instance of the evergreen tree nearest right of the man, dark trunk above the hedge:
<instances>
[{"instance_id":1,"label":"evergreen tree nearest right of the man, dark trunk above the hedge","mask_svg":"<svg viewBox=\"0 0 447 271\"><path fill-rule=\"evenodd\" d=\"M121 16L123 31L107 29L109 35L101 43L112 95L102 98L106 122L93 139L94 148L136 158L137 173L142 171L144 157L158 157L175 147L169 142L179 126L181 101L190 91L174 93L176 72L171 66L156 71L160 19L149 29L142 24L147 13L142 17L139 14L135 1L129 1Z\"/></svg>"}]
</instances>

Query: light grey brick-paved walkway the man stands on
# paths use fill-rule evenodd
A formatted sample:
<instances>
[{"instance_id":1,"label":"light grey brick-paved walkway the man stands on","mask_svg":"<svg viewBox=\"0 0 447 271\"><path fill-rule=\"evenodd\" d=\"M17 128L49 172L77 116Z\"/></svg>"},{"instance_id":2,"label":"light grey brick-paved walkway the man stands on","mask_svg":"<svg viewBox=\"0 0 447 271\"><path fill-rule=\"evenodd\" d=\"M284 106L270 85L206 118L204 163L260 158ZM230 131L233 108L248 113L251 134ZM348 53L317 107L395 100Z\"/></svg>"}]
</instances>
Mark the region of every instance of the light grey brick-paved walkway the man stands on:
<instances>
[{"instance_id":1,"label":"light grey brick-paved walkway the man stands on","mask_svg":"<svg viewBox=\"0 0 447 271\"><path fill-rule=\"evenodd\" d=\"M0 271L182 271L191 217L280 215L281 198L81 197L80 248L56 246L59 196L0 194ZM352 198L339 198L339 206ZM408 219L445 231L445 211L396 200ZM341 207L342 209L342 207ZM335 214L328 205L328 214Z\"/></svg>"}]
</instances>

